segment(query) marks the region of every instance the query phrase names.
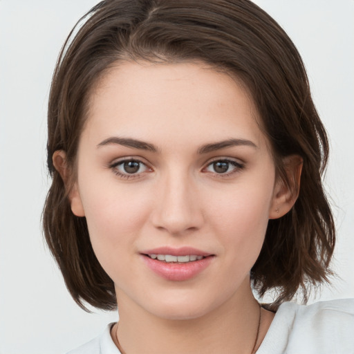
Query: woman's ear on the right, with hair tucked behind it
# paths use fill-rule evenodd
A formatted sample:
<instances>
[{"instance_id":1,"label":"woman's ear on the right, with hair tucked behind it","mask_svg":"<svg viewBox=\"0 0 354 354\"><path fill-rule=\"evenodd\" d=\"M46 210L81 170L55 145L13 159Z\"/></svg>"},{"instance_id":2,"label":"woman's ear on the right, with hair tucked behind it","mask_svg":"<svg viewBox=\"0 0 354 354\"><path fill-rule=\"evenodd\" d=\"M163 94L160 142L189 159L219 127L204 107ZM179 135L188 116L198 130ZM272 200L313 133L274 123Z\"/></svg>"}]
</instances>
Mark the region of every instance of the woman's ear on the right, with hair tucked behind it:
<instances>
[{"instance_id":1,"label":"woman's ear on the right, with hair tucked behind it","mask_svg":"<svg viewBox=\"0 0 354 354\"><path fill-rule=\"evenodd\" d=\"M277 178L274 185L273 199L269 218L280 218L290 211L299 196L300 177L304 160L299 155L286 156L283 159L288 183Z\"/></svg>"}]
</instances>

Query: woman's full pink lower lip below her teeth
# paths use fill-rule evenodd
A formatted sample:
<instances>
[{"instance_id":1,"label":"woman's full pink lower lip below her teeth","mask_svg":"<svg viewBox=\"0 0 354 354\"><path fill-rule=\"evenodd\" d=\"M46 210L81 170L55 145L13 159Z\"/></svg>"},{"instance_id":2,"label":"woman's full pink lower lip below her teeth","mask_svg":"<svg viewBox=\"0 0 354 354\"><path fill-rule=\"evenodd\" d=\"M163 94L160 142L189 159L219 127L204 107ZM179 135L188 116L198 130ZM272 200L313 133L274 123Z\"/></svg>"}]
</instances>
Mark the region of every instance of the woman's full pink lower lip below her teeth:
<instances>
[{"instance_id":1,"label":"woman's full pink lower lip below her teeth","mask_svg":"<svg viewBox=\"0 0 354 354\"><path fill-rule=\"evenodd\" d=\"M147 266L160 277L171 281L184 281L196 277L212 262L214 256L188 263L167 263L142 255Z\"/></svg>"}]
</instances>

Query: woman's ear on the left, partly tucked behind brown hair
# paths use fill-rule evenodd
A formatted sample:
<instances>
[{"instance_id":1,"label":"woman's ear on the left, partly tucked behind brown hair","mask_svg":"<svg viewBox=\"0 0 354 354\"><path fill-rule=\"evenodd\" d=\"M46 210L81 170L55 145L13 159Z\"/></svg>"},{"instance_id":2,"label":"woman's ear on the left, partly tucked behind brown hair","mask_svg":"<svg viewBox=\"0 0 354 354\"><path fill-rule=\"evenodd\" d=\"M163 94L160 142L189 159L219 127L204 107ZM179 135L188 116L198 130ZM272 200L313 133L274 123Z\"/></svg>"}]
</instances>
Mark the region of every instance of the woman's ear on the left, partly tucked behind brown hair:
<instances>
[{"instance_id":1,"label":"woman's ear on the left, partly tucked behind brown hair","mask_svg":"<svg viewBox=\"0 0 354 354\"><path fill-rule=\"evenodd\" d=\"M68 191L71 211L76 216L85 216L81 196L77 187L77 181L72 183L72 174L68 168L68 164L66 162L66 152L64 150L57 150L53 153L53 165L62 177L65 188Z\"/></svg>"}]
</instances>

